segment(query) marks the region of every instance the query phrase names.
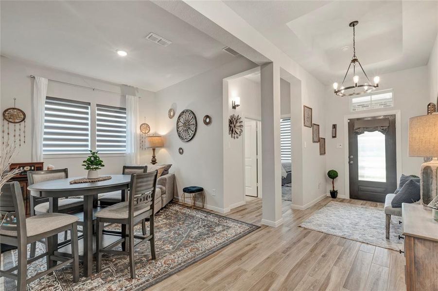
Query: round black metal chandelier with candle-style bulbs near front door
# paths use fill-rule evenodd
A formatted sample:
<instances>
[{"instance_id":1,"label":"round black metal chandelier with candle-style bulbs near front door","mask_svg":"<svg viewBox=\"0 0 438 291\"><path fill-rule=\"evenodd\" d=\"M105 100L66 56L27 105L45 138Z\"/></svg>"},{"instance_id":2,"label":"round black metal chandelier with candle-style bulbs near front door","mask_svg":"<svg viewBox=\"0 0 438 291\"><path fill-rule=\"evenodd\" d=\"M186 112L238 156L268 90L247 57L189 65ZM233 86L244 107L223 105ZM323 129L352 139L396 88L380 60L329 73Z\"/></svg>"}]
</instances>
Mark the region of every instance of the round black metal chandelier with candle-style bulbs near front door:
<instances>
[{"instance_id":1,"label":"round black metal chandelier with candle-style bulbs near front door","mask_svg":"<svg viewBox=\"0 0 438 291\"><path fill-rule=\"evenodd\" d=\"M355 96L369 93L376 88L379 87L379 76L374 77L374 84L371 83L368 79L367 73L365 73L364 68L360 64L359 60L356 57L356 42L355 42L355 27L359 23L359 21L353 21L349 24L350 27L353 28L353 58L351 59L350 65L348 66L347 72L345 73L344 80L342 80L342 84L338 87L338 83L333 83L334 94L337 96ZM359 76L356 75L356 64L359 64L360 69L364 73L367 78L367 82L363 84L359 84ZM344 87L345 78L347 78L348 72L350 71L350 67L353 65L353 85Z\"/></svg>"}]
</instances>

